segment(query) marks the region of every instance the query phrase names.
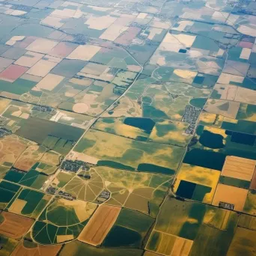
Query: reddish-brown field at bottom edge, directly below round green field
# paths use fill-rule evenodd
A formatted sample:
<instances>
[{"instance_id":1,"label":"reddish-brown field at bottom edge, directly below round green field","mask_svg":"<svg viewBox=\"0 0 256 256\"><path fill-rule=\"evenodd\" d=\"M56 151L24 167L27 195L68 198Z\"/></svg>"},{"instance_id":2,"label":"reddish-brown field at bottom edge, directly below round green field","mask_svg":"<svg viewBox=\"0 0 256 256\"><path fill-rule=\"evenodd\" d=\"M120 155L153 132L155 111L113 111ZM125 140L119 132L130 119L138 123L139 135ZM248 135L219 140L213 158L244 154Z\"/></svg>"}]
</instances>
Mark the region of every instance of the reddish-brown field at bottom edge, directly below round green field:
<instances>
[{"instance_id":1,"label":"reddish-brown field at bottom edge, directly below round green field","mask_svg":"<svg viewBox=\"0 0 256 256\"><path fill-rule=\"evenodd\" d=\"M61 245L58 246L40 246L37 247L25 247L21 241L11 256L56 256L61 249Z\"/></svg>"}]
</instances>

